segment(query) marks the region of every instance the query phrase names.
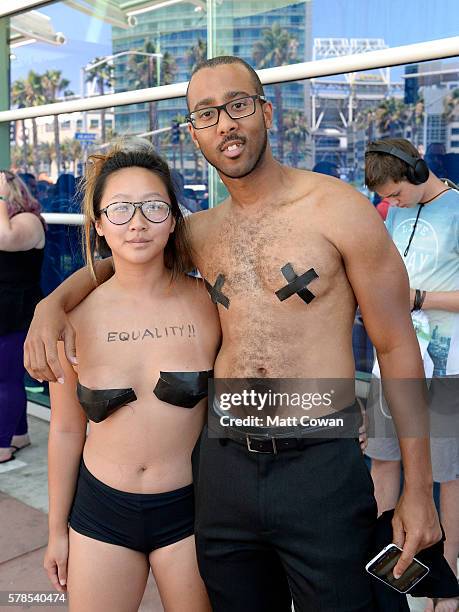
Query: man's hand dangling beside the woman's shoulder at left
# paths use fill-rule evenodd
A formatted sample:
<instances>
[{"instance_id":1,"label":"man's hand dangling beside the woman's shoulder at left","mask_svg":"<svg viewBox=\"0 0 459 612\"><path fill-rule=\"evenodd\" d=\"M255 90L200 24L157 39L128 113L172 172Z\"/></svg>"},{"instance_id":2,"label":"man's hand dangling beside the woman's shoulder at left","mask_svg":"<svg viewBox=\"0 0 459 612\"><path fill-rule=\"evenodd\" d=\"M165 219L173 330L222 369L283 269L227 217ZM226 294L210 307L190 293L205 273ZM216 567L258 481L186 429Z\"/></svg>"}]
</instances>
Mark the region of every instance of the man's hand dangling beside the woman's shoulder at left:
<instances>
[{"instance_id":1,"label":"man's hand dangling beside the woman's shoulder at left","mask_svg":"<svg viewBox=\"0 0 459 612\"><path fill-rule=\"evenodd\" d=\"M64 341L65 354L76 364L75 330L61 306L42 300L35 308L33 321L24 344L24 367L39 381L64 382L64 372L57 355L57 342Z\"/></svg>"}]
</instances>

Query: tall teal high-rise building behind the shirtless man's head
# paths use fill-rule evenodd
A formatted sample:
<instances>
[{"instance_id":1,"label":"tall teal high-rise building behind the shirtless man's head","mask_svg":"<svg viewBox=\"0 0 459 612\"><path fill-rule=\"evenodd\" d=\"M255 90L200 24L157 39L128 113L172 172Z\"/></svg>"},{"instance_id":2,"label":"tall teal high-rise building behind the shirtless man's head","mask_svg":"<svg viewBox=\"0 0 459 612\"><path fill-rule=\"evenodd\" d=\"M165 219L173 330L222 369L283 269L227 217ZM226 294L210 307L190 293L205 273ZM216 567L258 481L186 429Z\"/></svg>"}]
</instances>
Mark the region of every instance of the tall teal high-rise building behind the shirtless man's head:
<instances>
[{"instance_id":1,"label":"tall teal high-rise building behind the shirtless man's head","mask_svg":"<svg viewBox=\"0 0 459 612\"><path fill-rule=\"evenodd\" d=\"M279 8L273 9L273 4ZM301 1L296 4L290 2L272 2L260 0L256 2L238 2L237 0L223 0L218 3L218 11L214 22L214 55L237 55L254 67L258 67L254 59L254 49L257 42L263 40L265 30L280 26L288 33L291 43L287 52L290 54L286 63L292 61L303 62L311 59L311 19L312 1ZM172 66L171 82L186 81L190 77L193 65L199 59L205 59L207 53L206 41L208 31L208 15L199 6L191 3L180 3L167 8L144 13L139 25L132 28L113 27L113 54L129 50L160 53L159 60L151 56L144 59L139 56L139 62L151 62L150 69L144 70L146 82L143 87L155 86L164 83L165 66ZM132 89L133 81L138 73L132 70L132 56L115 59L115 91ZM163 64L161 66L161 63ZM276 61L267 63L264 67L276 65ZM131 69L130 69L131 67ZM149 82L148 82L149 81ZM282 85L282 117L291 111L304 115L306 102L309 98L309 85L306 83L288 83ZM276 102L276 92L273 86L266 87L267 96ZM129 105L115 109L115 131L118 133L140 134L154 129L161 129L172 125L176 118L186 114L184 99L165 100L158 104L148 103ZM152 113L152 114L150 114ZM271 133L274 154L279 153L279 139L276 128ZM284 161L289 159L290 147L288 133L282 139L285 141L283 152ZM166 139L160 141L161 151L172 159L172 147ZM196 165L195 155L191 147L185 147L182 155L185 158L184 171L187 175L193 174ZM175 158L175 154L174 154ZM305 163L304 155L301 162Z\"/></svg>"}]
</instances>

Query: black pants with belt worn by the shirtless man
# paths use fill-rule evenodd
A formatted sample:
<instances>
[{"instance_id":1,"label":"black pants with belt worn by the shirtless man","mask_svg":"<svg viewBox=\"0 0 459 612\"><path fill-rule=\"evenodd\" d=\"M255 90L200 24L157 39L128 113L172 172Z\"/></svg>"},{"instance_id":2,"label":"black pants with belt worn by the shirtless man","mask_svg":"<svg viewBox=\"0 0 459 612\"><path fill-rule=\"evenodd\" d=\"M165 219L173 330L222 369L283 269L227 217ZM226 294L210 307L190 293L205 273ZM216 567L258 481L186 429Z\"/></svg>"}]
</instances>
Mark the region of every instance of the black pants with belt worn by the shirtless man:
<instances>
[{"instance_id":1,"label":"black pants with belt worn by the shirtless man","mask_svg":"<svg viewBox=\"0 0 459 612\"><path fill-rule=\"evenodd\" d=\"M277 455L201 439L195 524L213 612L372 612L373 483L354 439Z\"/></svg>"}]
</instances>

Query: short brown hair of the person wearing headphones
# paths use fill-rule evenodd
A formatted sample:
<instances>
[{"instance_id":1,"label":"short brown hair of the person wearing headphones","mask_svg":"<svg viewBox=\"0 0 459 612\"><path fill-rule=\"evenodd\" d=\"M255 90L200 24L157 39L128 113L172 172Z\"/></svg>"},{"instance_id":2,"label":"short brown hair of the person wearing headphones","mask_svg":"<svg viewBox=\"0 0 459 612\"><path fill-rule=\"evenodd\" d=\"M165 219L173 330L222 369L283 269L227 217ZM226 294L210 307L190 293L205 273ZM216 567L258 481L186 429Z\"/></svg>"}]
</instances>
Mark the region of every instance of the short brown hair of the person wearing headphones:
<instances>
[{"instance_id":1,"label":"short brown hair of the person wearing headphones","mask_svg":"<svg viewBox=\"0 0 459 612\"><path fill-rule=\"evenodd\" d=\"M396 147L415 159L420 157L416 147L404 138L384 138L384 140L375 140L371 144ZM408 164L394 155L388 153L365 154L365 184L371 190L377 185L384 185L387 181L400 183L407 180L407 169Z\"/></svg>"}]
</instances>

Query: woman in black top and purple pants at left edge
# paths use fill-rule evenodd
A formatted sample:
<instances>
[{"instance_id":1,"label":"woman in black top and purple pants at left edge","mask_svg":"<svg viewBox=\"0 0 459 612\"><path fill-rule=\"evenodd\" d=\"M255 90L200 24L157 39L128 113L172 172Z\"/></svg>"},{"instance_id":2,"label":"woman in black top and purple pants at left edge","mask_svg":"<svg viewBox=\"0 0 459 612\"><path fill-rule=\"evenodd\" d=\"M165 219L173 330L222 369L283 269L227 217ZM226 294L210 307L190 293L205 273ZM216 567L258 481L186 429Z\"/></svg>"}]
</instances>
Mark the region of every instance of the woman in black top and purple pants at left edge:
<instances>
[{"instance_id":1,"label":"woman in black top and purple pants at left edge","mask_svg":"<svg viewBox=\"0 0 459 612\"><path fill-rule=\"evenodd\" d=\"M29 446L23 344L42 295L45 222L23 181L0 171L0 464Z\"/></svg>"}]
</instances>

